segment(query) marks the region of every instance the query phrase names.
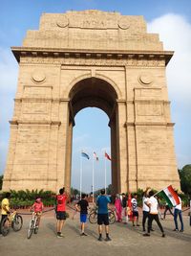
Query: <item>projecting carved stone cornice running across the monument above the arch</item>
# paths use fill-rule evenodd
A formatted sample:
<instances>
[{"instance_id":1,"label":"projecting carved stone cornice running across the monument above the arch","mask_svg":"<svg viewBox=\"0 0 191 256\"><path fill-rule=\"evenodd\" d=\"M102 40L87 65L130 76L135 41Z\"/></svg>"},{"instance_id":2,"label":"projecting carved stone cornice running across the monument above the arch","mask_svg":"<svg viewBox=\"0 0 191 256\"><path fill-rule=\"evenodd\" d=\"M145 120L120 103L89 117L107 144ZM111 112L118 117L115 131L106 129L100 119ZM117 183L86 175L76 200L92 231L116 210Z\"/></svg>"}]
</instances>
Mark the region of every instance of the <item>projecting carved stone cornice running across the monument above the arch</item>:
<instances>
[{"instance_id":1,"label":"projecting carved stone cornice running across the monument above the arch","mask_svg":"<svg viewBox=\"0 0 191 256\"><path fill-rule=\"evenodd\" d=\"M172 58L172 51L101 51L36 47L11 47L18 62L80 65L141 65L165 66Z\"/></svg>"}]
</instances>

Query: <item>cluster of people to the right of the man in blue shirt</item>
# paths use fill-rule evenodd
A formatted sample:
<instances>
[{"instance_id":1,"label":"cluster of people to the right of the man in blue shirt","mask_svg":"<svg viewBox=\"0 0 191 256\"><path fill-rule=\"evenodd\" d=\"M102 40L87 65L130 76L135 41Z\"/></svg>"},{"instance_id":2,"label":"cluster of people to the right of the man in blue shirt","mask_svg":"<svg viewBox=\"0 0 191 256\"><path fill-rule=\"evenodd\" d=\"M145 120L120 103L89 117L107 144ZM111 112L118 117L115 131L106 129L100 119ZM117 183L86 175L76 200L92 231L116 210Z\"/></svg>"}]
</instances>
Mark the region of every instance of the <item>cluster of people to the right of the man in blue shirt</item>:
<instances>
[{"instance_id":1,"label":"cluster of people to the right of the man in blue shirt","mask_svg":"<svg viewBox=\"0 0 191 256\"><path fill-rule=\"evenodd\" d=\"M124 221L127 223L130 218L132 218L133 226L135 226L135 221L138 224L138 194L134 194L133 198L130 198L130 202L127 196L123 193L121 195L117 194L117 198L115 201L115 207L117 211L117 221ZM179 197L180 199L180 197ZM130 206L131 205L131 206ZM181 214L181 199L180 204L175 206L174 214L171 210L171 207L166 203L165 210L163 213L163 218L161 217L161 213L159 211L159 198L155 195L153 190L147 188L143 195L142 195L142 231L146 232L146 221L147 223L147 232L143 234L143 236L150 236L150 231L154 231L152 228L152 222L155 220L158 225L159 229L162 233L162 237L165 237L165 233L163 227L159 221L159 217L161 220L165 220L167 211L170 212L171 215L174 216L175 221L175 229L174 231L183 232L183 221L182 221L182 214ZM178 227L178 216L180 218L180 229Z\"/></svg>"}]
</instances>

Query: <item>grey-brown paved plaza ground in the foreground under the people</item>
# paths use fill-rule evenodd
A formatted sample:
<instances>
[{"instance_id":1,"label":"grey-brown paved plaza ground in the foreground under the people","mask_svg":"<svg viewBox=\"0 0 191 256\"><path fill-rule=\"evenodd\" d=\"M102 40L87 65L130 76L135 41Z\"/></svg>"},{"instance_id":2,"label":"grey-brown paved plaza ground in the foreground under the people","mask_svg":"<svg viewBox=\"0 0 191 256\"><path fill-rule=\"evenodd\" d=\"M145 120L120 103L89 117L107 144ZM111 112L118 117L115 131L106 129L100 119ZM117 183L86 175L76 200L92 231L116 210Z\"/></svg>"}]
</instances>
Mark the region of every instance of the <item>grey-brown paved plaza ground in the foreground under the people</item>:
<instances>
[{"instance_id":1,"label":"grey-brown paved plaza ground in the foreground under the people","mask_svg":"<svg viewBox=\"0 0 191 256\"><path fill-rule=\"evenodd\" d=\"M120 255L120 256L150 256L150 255L173 255L188 256L191 251L191 226L187 212L183 213L185 230L183 233L172 231L174 221L172 216L167 215L165 221L161 221L166 237L161 238L158 226L154 223L155 231L151 237L142 236L141 225L133 227L129 222L114 223L110 225L111 242L97 241L96 224L87 223L87 237L79 236L79 216L74 216L70 211L70 218L67 219L63 228L64 238L58 239L55 235L55 218L53 211L47 212L42 217L41 226L37 235L32 234L27 239L27 230L30 216L23 215L24 224L19 232L11 230L7 237L0 236L1 255L8 256L88 256L88 255ZM141 221L141 216L140 216Z\"/></svg>"}]
</instances>

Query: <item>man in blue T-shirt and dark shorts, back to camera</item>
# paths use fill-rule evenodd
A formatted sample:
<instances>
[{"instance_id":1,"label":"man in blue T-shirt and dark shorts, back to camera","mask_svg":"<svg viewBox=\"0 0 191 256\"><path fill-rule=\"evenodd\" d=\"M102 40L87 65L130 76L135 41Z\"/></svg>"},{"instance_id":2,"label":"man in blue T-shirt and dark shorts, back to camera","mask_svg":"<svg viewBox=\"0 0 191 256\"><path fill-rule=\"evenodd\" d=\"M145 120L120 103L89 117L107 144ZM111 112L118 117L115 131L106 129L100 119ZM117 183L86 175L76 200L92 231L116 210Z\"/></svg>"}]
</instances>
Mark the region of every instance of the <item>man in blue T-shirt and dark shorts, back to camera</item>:
<instances>
[{"instance_id":1,"label":"man in blue T-shirt and dark shorts, back to camera","mask_svg":"<svg viewBox=\"0 0 191 256\"><path fill-rule=\"evenodd\" d=\"M98 224L98 241L102 241L102 224L105 225L106 239L105 241L111 241L109 237L109 216L108 216L108 203L111 200L105 195L105 190L101 190L101 195L96 199L97 209L97 224Z\"/></svg>"}]
</instances>

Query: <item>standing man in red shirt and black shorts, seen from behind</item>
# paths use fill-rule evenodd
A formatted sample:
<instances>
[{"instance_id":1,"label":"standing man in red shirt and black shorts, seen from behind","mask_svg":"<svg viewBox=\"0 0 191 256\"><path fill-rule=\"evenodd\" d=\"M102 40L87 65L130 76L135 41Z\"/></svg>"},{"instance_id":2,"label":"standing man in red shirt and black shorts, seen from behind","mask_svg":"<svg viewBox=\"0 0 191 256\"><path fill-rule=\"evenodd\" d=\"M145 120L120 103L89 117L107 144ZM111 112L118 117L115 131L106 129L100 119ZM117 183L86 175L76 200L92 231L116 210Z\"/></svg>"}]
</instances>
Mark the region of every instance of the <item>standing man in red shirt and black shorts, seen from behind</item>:
<instances>
[{"instance_id":1,"label":"standing man in red shirt and black shorts, seen from behind","mask_svg":"<svg viewBox=\"0 0 191 256\"><path fill-rule=\"evenodd\" d=\"M65 188L59 190L59 195L56 196L56 232L57 238L63 238L62 227L66 220L66 202L68 195L65 191Z\"/></svg>"}]
</instances>

